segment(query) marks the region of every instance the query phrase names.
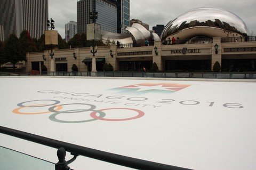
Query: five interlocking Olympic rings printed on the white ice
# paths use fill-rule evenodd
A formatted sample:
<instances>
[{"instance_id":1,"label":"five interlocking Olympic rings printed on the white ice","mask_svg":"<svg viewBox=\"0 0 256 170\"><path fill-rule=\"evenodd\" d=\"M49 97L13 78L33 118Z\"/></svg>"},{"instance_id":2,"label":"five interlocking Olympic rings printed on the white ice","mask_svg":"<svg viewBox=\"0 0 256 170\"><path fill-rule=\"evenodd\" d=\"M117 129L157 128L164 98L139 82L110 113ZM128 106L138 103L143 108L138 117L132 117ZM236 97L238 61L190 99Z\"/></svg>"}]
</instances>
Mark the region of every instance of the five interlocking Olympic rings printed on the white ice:
<instances>
[{"instance_id":1,"label":"five interlocking Olympic rings printed on the white ice","mask_svg":"<svg viewBox=\"0 0 256 170\"><path fill-rule=\"evenodd\" d=\"M45 103L45 104L35 104L35 103ZM29 104L30 103L30 104ZM132 120L132 119L138 119L142 116L145 115L145 113L141 110L138 109L131 109L131 108L106 108L106 109L99 109L96 110L96 106L93 104L86 104L86 103L69 103L69 104L59 104L60 101L58 100L31 100L31 101L26 101L26 102L21 102L17 104L19 108L16 108L12 110L14 114L20 114L20 115L36 115L36 114L49 114L53 113L52 115L49 116L49 119L54 121L54 122L59 122L59 123L84 123L84 122L92 122L94 120L106 120L106 121L125 121L125 120ZM71 109L71 110L63 110L65 107L69 106L76 106L80 107L79 109ZM44 110L42 108L45 107L50 107L48 110ZM82 109L81 109L82 107ZM87 108L89 107L89 109ZM41 108L44 111L41 112L34 112L35 109ZM72 107L74 108L74 107ZM31 109L32 112L22 112L22 110L27 110ZM129 111L135 111L136 115L128 118L105 118L106 113L103 112L105 110L129 110ZM77 114L77 113L82 113L82 112L87 112L90 111L90 119L85 119L85 120L61 120L58 119L58 115L60 114ZM119 112L118 112L119 114ZM123 114L123 112L122 112Z\"/></svg>"}]
</instances>

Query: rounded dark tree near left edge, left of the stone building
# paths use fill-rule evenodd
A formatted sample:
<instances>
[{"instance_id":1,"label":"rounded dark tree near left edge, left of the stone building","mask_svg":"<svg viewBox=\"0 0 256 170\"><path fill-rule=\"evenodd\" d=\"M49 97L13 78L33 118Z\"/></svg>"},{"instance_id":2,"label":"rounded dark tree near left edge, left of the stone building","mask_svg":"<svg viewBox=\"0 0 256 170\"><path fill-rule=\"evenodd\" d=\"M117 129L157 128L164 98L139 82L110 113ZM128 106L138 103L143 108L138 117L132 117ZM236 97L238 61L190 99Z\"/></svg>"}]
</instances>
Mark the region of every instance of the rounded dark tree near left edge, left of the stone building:
<instances>
[{"instance_id":1,"label":"rounded dark tree near left edge, left of the stone building","mask_svg":"<svg viewBox=\"0 0 256 170\"><path fill-rule=\"evenodd\" d=\"M12 63L13 69L15 69L15 63L24 60L24 56L20 54L19 39L14 34L11 34L6 40L4 55L6 56L7 61Z\"/></svg>"}]
</instances>

